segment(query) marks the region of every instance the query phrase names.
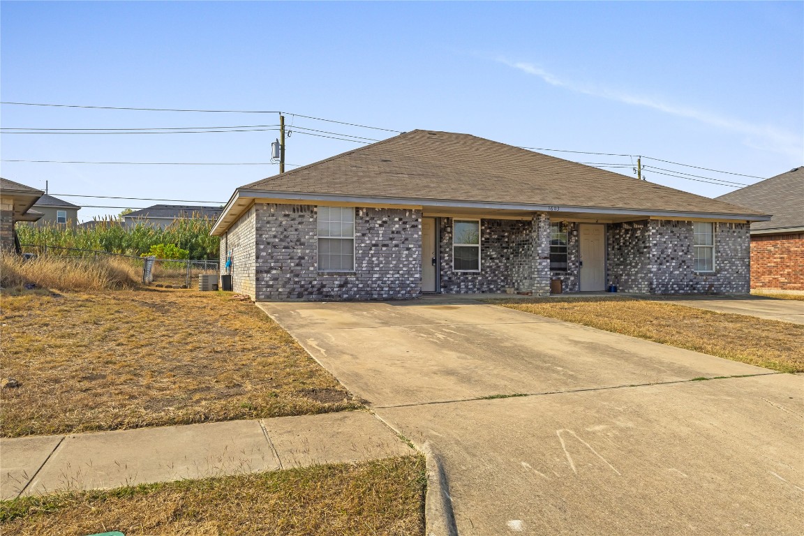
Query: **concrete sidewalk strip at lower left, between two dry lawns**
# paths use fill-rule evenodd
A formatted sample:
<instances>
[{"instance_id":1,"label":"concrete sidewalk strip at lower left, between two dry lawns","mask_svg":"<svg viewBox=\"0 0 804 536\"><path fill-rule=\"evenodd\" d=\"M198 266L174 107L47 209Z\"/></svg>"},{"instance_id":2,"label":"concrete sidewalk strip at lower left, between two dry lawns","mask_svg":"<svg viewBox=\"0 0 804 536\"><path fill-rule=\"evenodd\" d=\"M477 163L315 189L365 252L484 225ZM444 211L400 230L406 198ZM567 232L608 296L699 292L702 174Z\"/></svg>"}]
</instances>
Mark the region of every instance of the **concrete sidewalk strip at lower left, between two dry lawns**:
<instances>
[{"instance_id":1,"label":"concrete sidewalk strip at lower left, between two dry lawns","mask_svg":"<svg viewBox=\"0 0 804 536\"><path fill-rule=\"evenodd\" d=\"M366 411L0 440L0 499L415 451Z\"/></svg>"}]
</instances>

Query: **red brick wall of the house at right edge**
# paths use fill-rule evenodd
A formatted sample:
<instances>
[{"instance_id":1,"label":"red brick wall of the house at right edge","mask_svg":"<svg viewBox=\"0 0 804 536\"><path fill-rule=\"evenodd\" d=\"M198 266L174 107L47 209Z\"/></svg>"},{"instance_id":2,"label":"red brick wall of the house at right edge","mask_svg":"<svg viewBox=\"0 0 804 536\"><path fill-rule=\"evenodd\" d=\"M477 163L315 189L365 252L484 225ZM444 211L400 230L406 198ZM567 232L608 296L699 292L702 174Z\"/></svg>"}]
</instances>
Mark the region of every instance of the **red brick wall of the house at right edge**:
<instances>
[{"instance_id":1,"label":"red brick wall of the house at right edge","mask_svg":"<svg viewBox=\"0 0 804 536\"><path fill-rule=\"evenodd\" d=\"M804 233L751 237L751 288L804 290Z\"/></svg>"}]
</instances>

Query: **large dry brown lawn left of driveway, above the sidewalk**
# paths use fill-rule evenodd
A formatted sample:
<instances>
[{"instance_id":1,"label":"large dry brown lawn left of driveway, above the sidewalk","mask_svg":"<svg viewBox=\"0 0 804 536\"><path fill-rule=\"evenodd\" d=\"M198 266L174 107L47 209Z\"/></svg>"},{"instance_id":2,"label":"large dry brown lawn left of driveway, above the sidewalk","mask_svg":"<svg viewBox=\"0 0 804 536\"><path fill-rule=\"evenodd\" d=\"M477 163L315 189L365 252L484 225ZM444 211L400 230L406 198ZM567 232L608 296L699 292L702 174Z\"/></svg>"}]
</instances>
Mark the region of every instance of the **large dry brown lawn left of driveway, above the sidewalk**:
<instances>
[{"instance_id":1,"label":"large dry brown lawn left of driveway, above the sidewalk","mask_svg":"<svg viewBox=\"0 0 804 536\"><path fill-rule=\"evenodd\" d=\"M2 297L0 435L361 407L265 313L224 293Z\"/></svg>"}]
</instances>

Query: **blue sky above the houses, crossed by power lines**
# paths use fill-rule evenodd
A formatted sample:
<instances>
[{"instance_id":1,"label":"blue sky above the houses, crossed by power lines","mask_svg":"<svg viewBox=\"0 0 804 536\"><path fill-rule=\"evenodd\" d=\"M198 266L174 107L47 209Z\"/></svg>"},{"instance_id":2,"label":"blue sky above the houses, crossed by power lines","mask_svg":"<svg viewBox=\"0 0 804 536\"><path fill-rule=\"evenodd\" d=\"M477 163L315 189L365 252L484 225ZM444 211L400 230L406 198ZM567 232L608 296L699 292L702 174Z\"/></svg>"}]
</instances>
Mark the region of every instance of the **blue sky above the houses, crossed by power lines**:
<instances>
[{"instance_id":1,"label":"blue sky above the houses, crossed by power lines","mask_svg":"<svg viewBox=\"0 0 804 536\"><path fill-rule=\"evenodd\" d=\"M2 2L4 101L282 110L299 127L471 133L770 177L804 164L802 2ZM274 125L275 114L2 105L8 128ZM273 131L2 134L3 159L268 162ZM287 161L359 146L297 131ZM552 153L578 162L630 157ZM708 178L757 182L692 168ZM289 167L288 169L292 169ZM617 170L616 168L614 168ZM620 168L630 174L630 167ZM2 162L55 194L225 202L277 166ZM716 196L732 188L646 171ZM603 187L605 185L601 185ZM68 198L83 205L144 201ZM118 209L80 211L80 219Z\"/></svg>"}]
</instances>

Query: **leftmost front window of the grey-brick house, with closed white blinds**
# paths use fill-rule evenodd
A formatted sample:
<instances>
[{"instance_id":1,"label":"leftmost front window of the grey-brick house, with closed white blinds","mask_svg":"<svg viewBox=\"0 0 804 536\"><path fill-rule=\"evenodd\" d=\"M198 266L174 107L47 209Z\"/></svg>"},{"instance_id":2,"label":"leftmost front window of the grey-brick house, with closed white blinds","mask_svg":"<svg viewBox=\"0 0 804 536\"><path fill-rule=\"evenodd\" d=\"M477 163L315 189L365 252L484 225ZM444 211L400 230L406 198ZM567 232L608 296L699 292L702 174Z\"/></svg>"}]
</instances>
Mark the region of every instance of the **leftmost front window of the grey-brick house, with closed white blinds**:
<instances>
[{"instance_id":1,"label":"leftmost front window of the grey-brick house, with closed white blinds","mask_svg":"<svg viewBox=\"0 0 804 536\"><path fill-rule=\"evenodd\" d=\"M318 271L355 271L354 207L318 207Z\"/></svg>"}]
</instances>

